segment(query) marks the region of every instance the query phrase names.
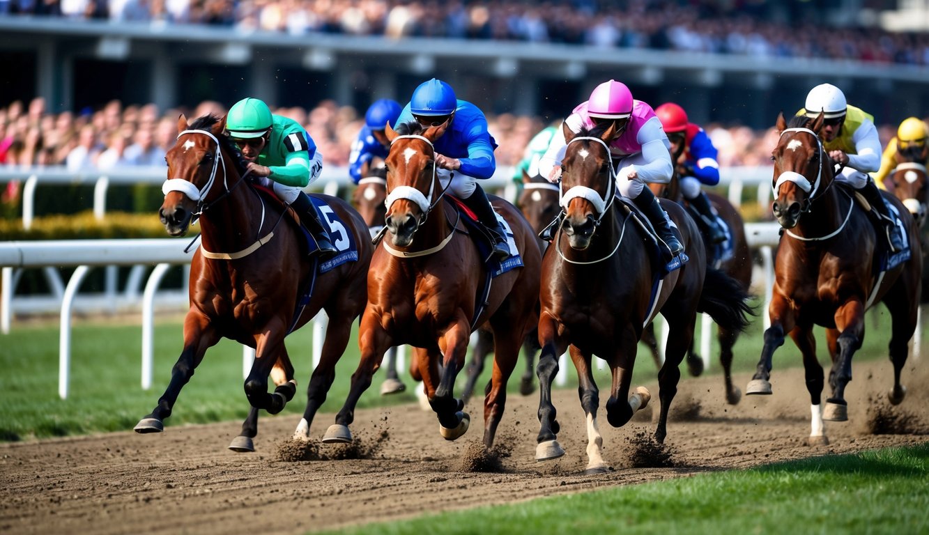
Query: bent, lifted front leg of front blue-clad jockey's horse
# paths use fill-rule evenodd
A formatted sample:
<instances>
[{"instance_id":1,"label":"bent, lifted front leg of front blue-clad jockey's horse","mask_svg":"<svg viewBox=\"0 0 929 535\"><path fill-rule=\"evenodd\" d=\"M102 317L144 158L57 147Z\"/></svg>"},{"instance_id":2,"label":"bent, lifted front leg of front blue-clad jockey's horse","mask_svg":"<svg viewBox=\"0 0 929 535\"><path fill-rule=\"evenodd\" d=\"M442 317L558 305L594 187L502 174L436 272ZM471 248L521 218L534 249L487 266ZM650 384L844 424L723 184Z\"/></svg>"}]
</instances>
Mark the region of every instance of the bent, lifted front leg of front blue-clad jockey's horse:
<instances>
[{"instance_id":1,"label":"bent, lifted front leg of front blue-clad jockey's horse","mask_svg":"<svg viewBox=\"0 0 929 535\"><path fill-rule=\"evenodd\" d=\"M438 416L438 432L446 440L455 440L464 435L471 422L468 413L462 411L464 402L454 398L455 378L458 371L464 368L464 358L467 356L467 344L470 339L470 328L463 316L462 320L451 324L449 330L439 337L439 353L435 353L434 350L429 351L429 362L434 362L438 358L442 359L440 371L435 367L430 367L430 374L436 374L431 379L433 381L438 379L438 381L434 383L436 387L432 396L429 397L429 405ZM424 377L424 381L428 380Z\"/></svg>"}]
</instances>

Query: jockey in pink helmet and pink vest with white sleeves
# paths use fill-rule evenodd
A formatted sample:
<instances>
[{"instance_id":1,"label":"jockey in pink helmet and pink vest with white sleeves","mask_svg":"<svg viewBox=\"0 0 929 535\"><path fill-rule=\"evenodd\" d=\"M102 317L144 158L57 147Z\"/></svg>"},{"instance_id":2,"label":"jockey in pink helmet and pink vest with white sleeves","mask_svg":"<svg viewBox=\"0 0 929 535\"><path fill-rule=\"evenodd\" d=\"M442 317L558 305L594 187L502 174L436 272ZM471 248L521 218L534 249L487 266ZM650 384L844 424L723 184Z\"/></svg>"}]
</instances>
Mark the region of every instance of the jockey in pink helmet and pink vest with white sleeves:
<instances>
[{"instance_id":1,"label":"jockey in pink helmet and pink vest with white sleeves","mask_svg":"<svg viewBox=\"0 0 929 535\"><path fill-rule=\"evenodd\" d=\"M620 133L608 143L616 168L617 193L635 202L648 217L673 258L684 246L677 238L674 222L651 189L645 187L646 182L667 184L674 173L671 143L661 129L661 121L651 106L635 100L629 88L615 80L597 85L590 98L565 119L565 124L575 133L582 127L604 126L609 122L616 123ZM560 177L561 160L567 147L564 131L559 128L539 163L540 171L550 182L557 182Z\"/></svg>"}]
</instances>

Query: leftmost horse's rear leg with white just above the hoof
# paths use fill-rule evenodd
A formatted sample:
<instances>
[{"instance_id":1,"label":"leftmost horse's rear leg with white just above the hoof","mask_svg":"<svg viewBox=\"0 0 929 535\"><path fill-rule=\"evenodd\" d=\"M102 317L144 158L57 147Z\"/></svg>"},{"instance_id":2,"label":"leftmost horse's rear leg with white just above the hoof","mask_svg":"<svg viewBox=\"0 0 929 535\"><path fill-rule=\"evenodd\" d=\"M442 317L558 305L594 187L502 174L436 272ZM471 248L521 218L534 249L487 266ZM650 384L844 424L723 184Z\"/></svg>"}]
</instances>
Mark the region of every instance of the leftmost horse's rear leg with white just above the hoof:
<instances>
[{"instance_id":1,"label":"leftmost horse's rear leg with white just above the hoof","mask_svg":"<svg viewBox=\"0 0 929 535\"><path fill-rule=\"evenodd\" d=\"M303 418L294 430L294 439L307 440L309 438L309 427L313 424L316 412L326 401L326 395L333 386L335 364L345 353L348 338L351 336L354 314L350 310L336 310L328 315L329 324L326 326L326 338L322 342L320 363L310 376L307 385L307 407L303 411Z\"/></svg>"}]
</instances>

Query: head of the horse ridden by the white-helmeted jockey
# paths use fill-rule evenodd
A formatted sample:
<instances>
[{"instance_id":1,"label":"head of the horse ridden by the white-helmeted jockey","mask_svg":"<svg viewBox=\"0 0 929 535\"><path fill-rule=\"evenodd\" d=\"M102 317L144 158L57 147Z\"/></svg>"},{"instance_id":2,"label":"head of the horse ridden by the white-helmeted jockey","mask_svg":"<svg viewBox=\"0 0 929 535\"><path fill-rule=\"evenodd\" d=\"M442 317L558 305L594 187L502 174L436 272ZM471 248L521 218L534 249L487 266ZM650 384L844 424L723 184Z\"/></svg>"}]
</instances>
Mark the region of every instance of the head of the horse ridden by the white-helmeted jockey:
<instances>
[{"instance_id":1,"label":"head of the horse ridden by the white-helmeted jockey","mask_svg":"<svg viewBox=\"0 0 929 535\"><path fill-rule=\"evenodd\" d=\"M829 154L823 148L820 131L822 113L810 123L798 115L787 124L778 115L778 146L772 151L774 161L774 204L772 210L783 228L794 228L800 216L810 211L813 200L831 184Z\"/></svg>"}]
</instances>

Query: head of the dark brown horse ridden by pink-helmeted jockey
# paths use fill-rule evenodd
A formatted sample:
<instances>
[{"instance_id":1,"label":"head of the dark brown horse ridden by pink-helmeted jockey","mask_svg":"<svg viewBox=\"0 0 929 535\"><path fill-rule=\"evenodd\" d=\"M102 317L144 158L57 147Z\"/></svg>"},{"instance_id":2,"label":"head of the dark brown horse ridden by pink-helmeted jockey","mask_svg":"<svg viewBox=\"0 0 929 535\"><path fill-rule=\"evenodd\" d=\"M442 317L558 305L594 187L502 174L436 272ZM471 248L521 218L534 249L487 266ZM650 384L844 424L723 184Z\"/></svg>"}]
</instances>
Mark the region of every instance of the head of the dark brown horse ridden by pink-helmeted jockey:
<instances>
[{"instance_id":1,"label":"head of the dark brown horse ridden by pink-helmeted jockey","mask_svg":"<svg viewBox=\"0 0 929 535\"><path fill-rule=\"evenodd\" d=\"M572 248L584 250L616 195L608 143L620 133L615 124L606 130L582 128L576 135L567 124L562 129L568 145L561 161L561 209L565 213L561 229Z\"/></svg>"}]
</instances>

